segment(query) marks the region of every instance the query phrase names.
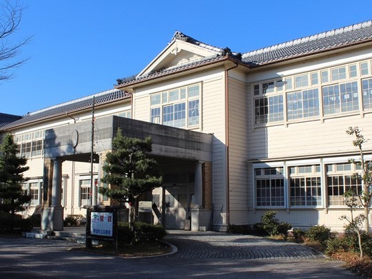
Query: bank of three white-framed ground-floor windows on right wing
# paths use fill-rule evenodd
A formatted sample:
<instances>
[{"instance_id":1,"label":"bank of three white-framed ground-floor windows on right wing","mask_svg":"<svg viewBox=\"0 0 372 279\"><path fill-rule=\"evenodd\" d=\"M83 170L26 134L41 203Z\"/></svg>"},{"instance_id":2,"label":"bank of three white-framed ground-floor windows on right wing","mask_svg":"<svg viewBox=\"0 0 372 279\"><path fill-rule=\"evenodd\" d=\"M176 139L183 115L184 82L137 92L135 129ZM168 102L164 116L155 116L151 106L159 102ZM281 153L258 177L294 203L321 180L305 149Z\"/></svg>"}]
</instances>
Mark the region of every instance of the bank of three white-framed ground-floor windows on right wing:
<instances>
[{"instance_id":1,"label":"bank of three white-framed ground-floor windows on right wing","mask_svg":"<svg viewBox=\"0 0 372 279\"><path fill-rule=\"evenodd\" d=\"M319 158L303 161L303 165L300 160L296 165L294 161L282 162L279 167L275 162L276 167L270 163L253 165L255 206L344 207L345 192L351 189L355 194L362 193L358 163L349 163L348 158L323 161L327 163L321 163ZM336 163L329 163L331 161Z\"/></svg>"}]
</instances>

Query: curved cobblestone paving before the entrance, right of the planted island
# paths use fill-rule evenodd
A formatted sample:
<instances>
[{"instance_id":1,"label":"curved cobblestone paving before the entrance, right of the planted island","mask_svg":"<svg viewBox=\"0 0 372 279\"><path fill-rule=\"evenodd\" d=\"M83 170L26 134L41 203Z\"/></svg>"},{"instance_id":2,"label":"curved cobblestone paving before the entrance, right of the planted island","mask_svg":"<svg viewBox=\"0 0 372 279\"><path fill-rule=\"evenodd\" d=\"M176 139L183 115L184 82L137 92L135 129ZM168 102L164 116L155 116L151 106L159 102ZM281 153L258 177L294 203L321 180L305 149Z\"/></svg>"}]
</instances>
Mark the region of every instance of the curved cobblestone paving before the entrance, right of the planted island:
<instances>
[{"instance_id":1,"label":"curved cobblestone paving before the entrance, right of the planted island","mask_svg":"<svg viewBox=\"0 0 372 279\"><path fill-rule=\"evenodd\" d=\"M315 249L292 242L282 242L236 234L169 231L165 238L176 246L176 258L200 259L315 259L324 258Z\"/></svg>"}]
</instances>

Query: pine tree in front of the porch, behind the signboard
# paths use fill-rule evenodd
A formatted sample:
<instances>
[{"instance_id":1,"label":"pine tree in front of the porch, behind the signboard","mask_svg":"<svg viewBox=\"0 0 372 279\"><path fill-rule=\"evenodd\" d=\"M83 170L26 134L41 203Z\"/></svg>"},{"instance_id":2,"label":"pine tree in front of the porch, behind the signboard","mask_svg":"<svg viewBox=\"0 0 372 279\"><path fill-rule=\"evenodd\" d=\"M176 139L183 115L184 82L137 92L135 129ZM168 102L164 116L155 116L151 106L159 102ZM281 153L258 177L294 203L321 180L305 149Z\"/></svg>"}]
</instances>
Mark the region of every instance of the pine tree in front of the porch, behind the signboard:
<instances>
[{"instance_id":1,"label":"pine tree in front of the porch, behind the signboard","mask_svg":"<svg viewBox=\"0 0 372 279\"><path fill-rule=\"evenodd\" d=\"M152 152L151 137L145 140L128 138L118 129L112 145L114 151L107 153L107 164L103 166L105 176L102 179L103 183L111 187L101 187L99 192L130 205L130 227L133 229L138 197L160 187L163 177L158 163L147 155Z\"/></svg>"}]
</instances>

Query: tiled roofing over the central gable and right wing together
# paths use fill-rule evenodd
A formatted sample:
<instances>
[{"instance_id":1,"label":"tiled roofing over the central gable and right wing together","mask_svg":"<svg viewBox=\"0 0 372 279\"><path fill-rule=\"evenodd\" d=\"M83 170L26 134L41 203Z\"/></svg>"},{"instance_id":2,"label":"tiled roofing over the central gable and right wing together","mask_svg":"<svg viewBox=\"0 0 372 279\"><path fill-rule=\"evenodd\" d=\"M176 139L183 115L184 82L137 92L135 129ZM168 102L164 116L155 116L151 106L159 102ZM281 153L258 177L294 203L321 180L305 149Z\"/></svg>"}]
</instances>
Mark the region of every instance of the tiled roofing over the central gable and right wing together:
<instances>
[{"instance_id":1,"label":"tiled roofing over the central gable and right wing together","mask_svg":"<svg viewBox=\"0 0 372 279\"><path fill-rule=\"evenodd\" d=\"M115 85L115 87L120 88L124 85L155 79L159 76L180 72L185 69L192 69L196 65L200 67L201 65L206 65L212 62L216 63L217 61L223 60L223 56L229 56L230 59L234 59L242 65L254 68L289 59L296 59L310 54L328 52L338 48L347 48L358 43L372 42L372 21L349 25L343 28L322 32L293 41L287 41L285 43L279 43L277 45L271 45L267 48L261 48L259 50L242 54L239 52L231 52L228 48L222 49L202 43L179 31L174 34L168 46L174 43L174 41L183 41L192 45L197 45L205 50L211 50L213 55L206 56L198 61L192 61L185 65L172 65L169 68L161 68L160 70L155 70L153 72L143 71L137 76L132 76L130 78L117 79L118 85Z\"/></svg>"}]
</instances>

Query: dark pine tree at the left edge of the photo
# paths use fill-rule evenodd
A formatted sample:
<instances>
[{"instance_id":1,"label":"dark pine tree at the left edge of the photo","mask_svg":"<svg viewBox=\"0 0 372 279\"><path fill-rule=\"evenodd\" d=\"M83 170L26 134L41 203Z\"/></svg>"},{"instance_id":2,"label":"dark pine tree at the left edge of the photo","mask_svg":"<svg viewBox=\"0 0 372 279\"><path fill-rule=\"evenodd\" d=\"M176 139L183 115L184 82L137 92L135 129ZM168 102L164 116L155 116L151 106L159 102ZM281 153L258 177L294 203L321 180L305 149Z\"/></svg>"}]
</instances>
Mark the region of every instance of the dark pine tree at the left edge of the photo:
<instances>
[{"instance_id":1,"label":"dark pine tree at the left edge of the photo","mask_svg":"<svg viewBox=\"0 0 372 279\"><path fill-rule=\"evenodd\" d=\"M25 204L31 197L23 194L22 183L25 182L23 172L27 159L17 156L17 145L12 134L7 134L0 146L0 211L14 216L25 210Z\"/></svg>"}]
</instances>

